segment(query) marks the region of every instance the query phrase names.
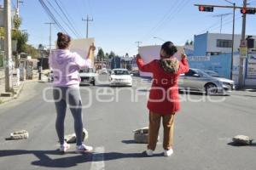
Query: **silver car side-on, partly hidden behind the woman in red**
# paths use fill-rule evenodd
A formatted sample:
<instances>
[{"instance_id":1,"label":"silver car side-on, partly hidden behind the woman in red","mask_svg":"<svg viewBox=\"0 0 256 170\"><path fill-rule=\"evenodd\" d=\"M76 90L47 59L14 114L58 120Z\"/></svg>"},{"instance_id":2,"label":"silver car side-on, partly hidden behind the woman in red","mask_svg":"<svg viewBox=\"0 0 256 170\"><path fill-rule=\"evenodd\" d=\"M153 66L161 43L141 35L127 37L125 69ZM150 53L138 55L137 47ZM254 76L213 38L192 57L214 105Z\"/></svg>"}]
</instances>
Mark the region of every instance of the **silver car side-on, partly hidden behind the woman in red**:
<instances>
[{"instance_id":1,"label":"silver car side-on, partly hidden behind the woman in red","mask_svg":"<svg viewBox=\"0 0 256 170\"><path fill-rule=\"evenodd\" d=\"M207 74L208 72L208 74ZM203 92L206 94L229 94L235 89L233 80L219 77L214 71L189 69L178 81L180 90Z\"/></svg>"}]
</instances>

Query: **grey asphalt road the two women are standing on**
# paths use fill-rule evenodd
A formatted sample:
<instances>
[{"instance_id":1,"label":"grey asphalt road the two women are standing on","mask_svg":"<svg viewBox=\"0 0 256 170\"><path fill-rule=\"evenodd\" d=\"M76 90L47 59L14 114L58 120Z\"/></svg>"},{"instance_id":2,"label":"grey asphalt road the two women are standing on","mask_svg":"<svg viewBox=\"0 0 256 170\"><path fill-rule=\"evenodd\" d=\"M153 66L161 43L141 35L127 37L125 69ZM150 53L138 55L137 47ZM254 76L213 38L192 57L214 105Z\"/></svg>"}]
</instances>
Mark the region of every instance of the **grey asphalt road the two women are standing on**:
<instances>
[{"instance_id":1,"label":"grey asphalt road the two women are standing on","mask_svg":"<svg viewBox=\"0 0 256 170\"><path fill-rule=\"evenodd\" d=\"M101 77L106 80L107 77ZM127 170L253 170L256 144L234 146L231 138L245 134L256 139L256 92L234 92L230 96L181 94L177 113L174 154L162 155L162 128L155 156L143 154L146 144L133 141L132 130L148 126L146 108L150 82L134 77L133 88L81 87L86 144L95 152L61 155L56 150L55 106L44 99L49 83L29 82L20 98L0 105L0 169L127 169ZM45 91L51 99L50 90ZM26 129L29 139L9 141L9 133ZM66 133L73 133L73 117L67 111Z\"/></svg>"}]
</instances>

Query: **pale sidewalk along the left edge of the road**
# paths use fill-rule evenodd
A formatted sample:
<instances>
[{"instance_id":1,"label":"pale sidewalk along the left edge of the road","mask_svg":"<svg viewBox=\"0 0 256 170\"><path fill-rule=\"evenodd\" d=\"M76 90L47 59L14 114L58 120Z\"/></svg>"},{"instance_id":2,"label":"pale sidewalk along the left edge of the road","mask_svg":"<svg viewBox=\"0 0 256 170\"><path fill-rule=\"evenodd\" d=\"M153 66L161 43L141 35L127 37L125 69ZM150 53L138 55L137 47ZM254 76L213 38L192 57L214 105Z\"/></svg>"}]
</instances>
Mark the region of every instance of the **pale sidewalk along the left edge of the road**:
<instances>
[{"instance_id":1,"label":"pale sidewalk along the left edge of the road","mask_svg":"<svg viewBox=\"0 0 256 170\"><path fill-rule=\"evenodd\" d=\"M0 94L5 92L4 75L2 73L0 74ZM20 84L18 85L17 77L14 74L13 76L14 91L10 94L10 96L7 96L7 97L0 96L0 105L3 103L9 102L12 99L17 99L24 87L25 82L34 82L37 80L38 80L38 71L34 70L32 80L20 81Z\"/></svg>"}]
</instances>

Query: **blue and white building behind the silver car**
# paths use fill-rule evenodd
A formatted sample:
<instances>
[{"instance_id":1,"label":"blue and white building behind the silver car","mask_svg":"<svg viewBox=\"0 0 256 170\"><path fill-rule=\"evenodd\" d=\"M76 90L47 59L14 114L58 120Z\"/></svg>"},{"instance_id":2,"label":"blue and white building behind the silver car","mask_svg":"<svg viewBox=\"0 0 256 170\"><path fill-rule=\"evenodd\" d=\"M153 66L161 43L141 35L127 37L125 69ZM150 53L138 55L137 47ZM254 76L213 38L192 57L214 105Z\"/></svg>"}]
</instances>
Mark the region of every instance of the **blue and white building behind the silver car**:
<instances>
[{"instance_id":1,"label":"blue and white building behind the silver car","mask_svg":"<svg viewBox=\"0 0 256 170\"><path fill-rule=\"evenodd\" d=\"M256 37L253 37L256 39ZM239 70L239 47L241 35L235 35L234 56L231 63L232 34L204 33L194 37L194 54L189 57L191 68L216 71L222 77L230 78L231 65L232 75L235 82L238 81ZM254 40L254 49L256 49ZM252 56L255 52L251 50L248 58L245 59L244 72L246 85L256 85L256 66Z\"/></svg>"}]
</instances>

